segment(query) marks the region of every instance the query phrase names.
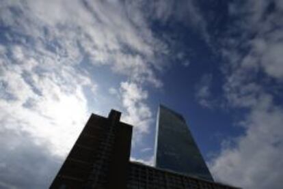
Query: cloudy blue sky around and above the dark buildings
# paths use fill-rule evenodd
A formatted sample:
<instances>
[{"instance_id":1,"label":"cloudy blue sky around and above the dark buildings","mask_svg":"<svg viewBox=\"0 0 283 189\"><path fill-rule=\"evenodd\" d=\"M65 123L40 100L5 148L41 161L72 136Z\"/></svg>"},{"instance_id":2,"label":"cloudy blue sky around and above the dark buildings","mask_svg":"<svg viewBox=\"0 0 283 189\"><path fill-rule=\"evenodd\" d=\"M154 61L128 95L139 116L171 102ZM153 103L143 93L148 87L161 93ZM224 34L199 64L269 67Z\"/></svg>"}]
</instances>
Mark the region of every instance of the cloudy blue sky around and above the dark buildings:
<instances>
[{"instance_id":1,"label":"cloudy blue sky around and above the dark buildings","mask_svg":"<svg viewBox=\"0 0 283 189\"><path fill-rule=\"evenodd\" d=\"M152 164L160 103L216 181L281 188L282 52L282 0L0 0L0 188L48 188L111 108Z\"/></svg>"}]
</instances>

